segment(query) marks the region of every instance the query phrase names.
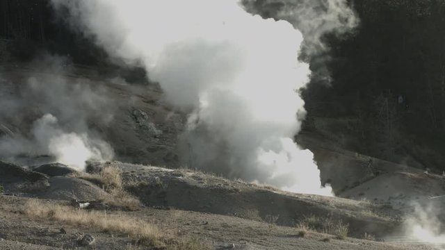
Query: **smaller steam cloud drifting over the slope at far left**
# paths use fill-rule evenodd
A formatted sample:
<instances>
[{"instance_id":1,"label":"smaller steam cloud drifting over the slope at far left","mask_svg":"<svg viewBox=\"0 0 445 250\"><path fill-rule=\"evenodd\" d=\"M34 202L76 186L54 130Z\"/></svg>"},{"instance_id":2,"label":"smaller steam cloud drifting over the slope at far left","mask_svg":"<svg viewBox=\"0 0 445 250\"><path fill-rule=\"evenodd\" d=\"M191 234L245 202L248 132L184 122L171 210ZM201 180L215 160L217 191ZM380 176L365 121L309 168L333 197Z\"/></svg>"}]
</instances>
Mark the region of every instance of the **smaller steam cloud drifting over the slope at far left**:
<instances>
[{"instance_id":1,"label":"smaller steam cloud drifting over the slope at far left","mask_svg":"<svg viewBox=\"0 0 445 250\"><path fill-rule=\"evenodd\" d=\"M46 155L78 170L86 160L111 160L111 147L88 126L92 117L103 124L111 121L106 94L68 82L58 76L66 72L52 66L60 65L60 58L47 60L45 74L1 84L0 158L15 162Z\"/></svg>"}]
</instances>

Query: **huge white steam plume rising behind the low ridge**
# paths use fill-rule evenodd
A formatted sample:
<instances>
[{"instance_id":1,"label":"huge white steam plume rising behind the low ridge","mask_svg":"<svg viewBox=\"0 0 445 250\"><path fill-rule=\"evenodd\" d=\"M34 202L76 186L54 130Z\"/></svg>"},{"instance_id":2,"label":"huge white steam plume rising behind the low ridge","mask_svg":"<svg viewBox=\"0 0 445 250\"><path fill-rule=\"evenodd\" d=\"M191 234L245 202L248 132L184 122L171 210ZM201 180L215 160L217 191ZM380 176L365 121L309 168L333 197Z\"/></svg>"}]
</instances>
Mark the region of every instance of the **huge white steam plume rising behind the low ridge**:
<instances>
[{"instance_id":1,"label":"huge white steam plume rising behind the low ridge","mask_svg":"<svg viewBox=\"0 0 445 250\"><path fill-rule=\"evenodd\" d=\"M236 0L52 2L111 56L143 64L169 103L193 110L182 154L191 167L332 194L312 152L292 139L310 71L289 22L250 15Z\"/></svg>"}]
</instances>

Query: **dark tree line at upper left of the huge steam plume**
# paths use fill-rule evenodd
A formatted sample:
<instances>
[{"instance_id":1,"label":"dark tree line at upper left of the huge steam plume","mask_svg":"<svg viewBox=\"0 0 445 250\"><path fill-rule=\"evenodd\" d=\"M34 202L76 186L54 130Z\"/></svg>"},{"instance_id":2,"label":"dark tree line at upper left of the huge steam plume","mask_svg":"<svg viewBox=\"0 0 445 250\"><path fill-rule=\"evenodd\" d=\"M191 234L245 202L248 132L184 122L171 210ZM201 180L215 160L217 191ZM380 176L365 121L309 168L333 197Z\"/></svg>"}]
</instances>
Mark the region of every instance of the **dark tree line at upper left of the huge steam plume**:
<instances>
[{"instance_id":1,"label":"dark tree line at upper left of the huge steam plume","mask_svg":"<svg viewBox=\"0 0 445 250\"><path fill-rule=\"evenodd\" d=\"M64 56L76 65L95 66L97 73L108 77L147 83L144 69L108 60L102 48L72 31L65 21L49 0L0 0L0 62L26 63L39 58L40 53L50 53ZM2 51L8 51L8 58L1 58Z\"/></svg>"}]
</instances>

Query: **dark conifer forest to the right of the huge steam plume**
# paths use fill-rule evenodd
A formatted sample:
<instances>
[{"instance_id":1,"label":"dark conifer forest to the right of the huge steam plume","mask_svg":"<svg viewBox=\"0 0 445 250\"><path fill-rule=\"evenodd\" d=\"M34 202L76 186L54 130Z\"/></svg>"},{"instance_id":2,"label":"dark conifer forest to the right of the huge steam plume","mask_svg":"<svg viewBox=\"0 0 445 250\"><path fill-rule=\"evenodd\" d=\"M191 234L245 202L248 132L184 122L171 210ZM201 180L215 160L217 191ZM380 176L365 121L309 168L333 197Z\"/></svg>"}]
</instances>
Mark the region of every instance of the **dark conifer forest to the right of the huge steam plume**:
<instances>
[{"instance_id":1,"label":"dark conifer forest to the right of the huge steam plume","mask_svg":"<svg viewBox=\"0 0 445 250\"><path fill-rule=\"evenodd\" d=\"M346 40L326 36L332 82L309 85L309 114L355 120L347 147L445 169L445 1L351 5L361 24Z\"/></svg>"}]
</instances>

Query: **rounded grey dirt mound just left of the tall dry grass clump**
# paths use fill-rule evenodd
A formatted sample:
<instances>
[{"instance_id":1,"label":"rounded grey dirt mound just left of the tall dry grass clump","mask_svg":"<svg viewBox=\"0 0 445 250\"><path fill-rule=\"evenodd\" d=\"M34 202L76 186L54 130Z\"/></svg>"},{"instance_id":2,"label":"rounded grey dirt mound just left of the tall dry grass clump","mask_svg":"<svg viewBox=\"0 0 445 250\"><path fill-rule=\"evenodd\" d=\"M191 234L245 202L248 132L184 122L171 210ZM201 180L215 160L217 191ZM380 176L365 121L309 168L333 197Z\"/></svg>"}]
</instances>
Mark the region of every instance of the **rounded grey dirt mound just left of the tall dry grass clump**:
<instances>
[{"instance_id":1,"label":"rounded grey dirt mound just left of the tall dry grass clump","mask_svg":"<svg viewBox=\"0 0 445 250\"><path fill-rule=\"evenodd\" d=\"M40 199L54 199L70 201L97 201L110 198L110 194L90 183L79 178L69 178L63 176L49 178L49 187L35 190L31 194Z\"/></svg>"}]
</instances>

